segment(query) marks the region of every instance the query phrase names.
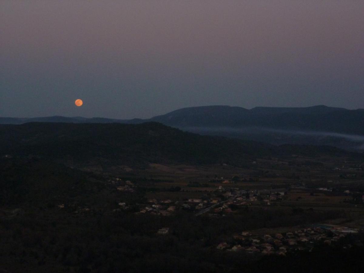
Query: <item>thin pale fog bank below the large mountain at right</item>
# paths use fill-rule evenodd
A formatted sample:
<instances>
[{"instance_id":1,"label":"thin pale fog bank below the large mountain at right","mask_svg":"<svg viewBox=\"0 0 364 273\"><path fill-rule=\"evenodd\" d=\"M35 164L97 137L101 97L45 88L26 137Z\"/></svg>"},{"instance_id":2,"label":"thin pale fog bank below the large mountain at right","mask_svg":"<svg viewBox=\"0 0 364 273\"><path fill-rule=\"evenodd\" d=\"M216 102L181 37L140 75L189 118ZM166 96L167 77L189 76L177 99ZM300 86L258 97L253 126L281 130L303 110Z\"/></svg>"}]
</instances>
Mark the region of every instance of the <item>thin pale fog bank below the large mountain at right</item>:
<instances>
[{"instance_id":1,"label":"thin pale fog bank below the large mountain at right","mask_svg":"<svg viewBox=\"0 0 364 273\"><path fill-rule=\"evenodd\" d=\"M329 145L349 151L364 151L364 135L336 132L284 130L266 127L178 127L183 131L202 135L248 139L274 145Z\"/></svg>"}]
</instances>

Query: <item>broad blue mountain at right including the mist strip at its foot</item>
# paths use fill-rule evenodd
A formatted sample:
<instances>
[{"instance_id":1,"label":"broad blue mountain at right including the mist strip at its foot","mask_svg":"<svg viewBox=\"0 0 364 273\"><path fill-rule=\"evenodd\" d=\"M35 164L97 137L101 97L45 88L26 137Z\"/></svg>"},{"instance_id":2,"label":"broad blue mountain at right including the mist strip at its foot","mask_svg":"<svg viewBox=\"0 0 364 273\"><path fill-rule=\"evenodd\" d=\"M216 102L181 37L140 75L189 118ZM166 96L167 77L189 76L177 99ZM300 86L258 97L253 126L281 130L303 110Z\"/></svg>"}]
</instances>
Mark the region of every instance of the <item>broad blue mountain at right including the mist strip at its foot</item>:
<instances>
[{"instance_id":1,"label":"broad blue mountain at right including the mist strip at its foot","mask_svg":"<svg viewBox=\"0 0 364 273\"><path fill-rule=\"evenodd\" d=\"M274 145L329 145L364 151L364 110L327 107L229 106L183 108L152 118L203 135L249 139Z\"/></svg>"}]
</instances>

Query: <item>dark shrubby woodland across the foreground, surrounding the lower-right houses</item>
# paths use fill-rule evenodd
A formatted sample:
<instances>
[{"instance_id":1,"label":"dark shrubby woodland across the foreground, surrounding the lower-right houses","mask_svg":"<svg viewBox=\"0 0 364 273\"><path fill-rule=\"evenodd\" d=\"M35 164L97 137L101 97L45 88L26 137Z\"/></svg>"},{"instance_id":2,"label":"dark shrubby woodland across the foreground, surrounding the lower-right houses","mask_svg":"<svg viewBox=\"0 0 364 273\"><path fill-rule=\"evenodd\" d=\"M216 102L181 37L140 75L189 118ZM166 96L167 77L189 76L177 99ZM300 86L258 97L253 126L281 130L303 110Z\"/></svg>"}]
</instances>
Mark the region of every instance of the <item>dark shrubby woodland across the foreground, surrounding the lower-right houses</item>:
<instances>
[{"instance_id":1,"label":"dark shrubby woodland across the foreground, surrounding the lower-right houses","mask_svg":"<svg viewBox=\"0 0 364 273\"><path fill-rule=\"evenodd\" d=\"M262 272L274 266L289 272L314 272L340 266L355 272L361 266L359 256L364 253L363 248L321 248L313 253L262 260L253 254L215 249L224 234L262 224L268 227L282 222L302 223L322 219L323 215L294 217L290 213L269 215L248 210L240 216L221 221L189 213L173 217L102 211L75 215L56 208L28 209L21 216L1 220L1 269L11 272L24 268L27 272L240 272L244 267L246 272ZM162 226L169 226L171 234L158 236L156 231ZM312 264L312 260L316 263ZM321 272L328 272L326 269Z\"/></svg>"}]
</instances>

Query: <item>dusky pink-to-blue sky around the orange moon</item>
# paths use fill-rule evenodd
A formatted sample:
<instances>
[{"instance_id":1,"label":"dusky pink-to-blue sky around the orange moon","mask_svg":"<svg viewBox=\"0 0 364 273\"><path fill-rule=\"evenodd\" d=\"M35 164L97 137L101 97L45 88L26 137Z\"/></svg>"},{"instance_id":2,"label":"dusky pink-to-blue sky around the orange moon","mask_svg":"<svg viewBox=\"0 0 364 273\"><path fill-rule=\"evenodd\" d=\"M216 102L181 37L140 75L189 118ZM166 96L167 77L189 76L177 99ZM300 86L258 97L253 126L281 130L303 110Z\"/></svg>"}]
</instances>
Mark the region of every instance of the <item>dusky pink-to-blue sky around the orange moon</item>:
<instances>
[{"instance_id":1,"label":"dusky pink-to-blue sky around the orange moon","mask_svg":"<svg viewBox=\"0 0 364 273\"><path fill-rule=\"evenodd\" d=\"M0 116L364 108L363 0L1 0L0 47Z\"/></svg>"}]
</instances>

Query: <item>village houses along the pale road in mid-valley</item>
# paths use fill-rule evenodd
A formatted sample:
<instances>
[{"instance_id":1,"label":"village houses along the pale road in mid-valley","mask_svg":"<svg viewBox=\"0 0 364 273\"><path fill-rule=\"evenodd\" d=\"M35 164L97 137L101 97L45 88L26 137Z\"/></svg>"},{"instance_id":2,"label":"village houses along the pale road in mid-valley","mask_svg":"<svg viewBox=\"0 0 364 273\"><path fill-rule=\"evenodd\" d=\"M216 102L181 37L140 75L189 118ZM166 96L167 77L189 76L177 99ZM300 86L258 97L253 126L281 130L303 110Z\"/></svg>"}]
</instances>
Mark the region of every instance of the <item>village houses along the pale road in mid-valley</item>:
<instances>
[{"instance_id":1,"label":"village houses along the pale road in mid-valley","mask_svg":"<svg viewBox=\"0 0 364 273\"><path fill-rule=\"evenodd\" d=\"M112 183L118 184L120 179L117 179L117 181L112 181ZM287 200L290 193L293 193L297 189L301 192L310 191L310 195L315 196L315 194L312 193L312 189L300 185L290 185L289 187L280 189L241 189L241 187L234 185L233 181L223 180L222 184L223 185L216 185L215 188L213 188L213 191L200 191L201 194L199 198L188 198L188 190L183 191L184 196L187 197L182 200L180 198L178 200L171 198L147 198L145 203L137 204L139 210L135 211L135 213L150 213L168 216L177 210L185 210L194 212L196 216L206 214L211 217L216 217L234 213L234 211L238 209L249 206L277 206L282 200ZM138 190L138 187L131 181L126 181L123 186L117 186L117 189L123 193L133 193ZM318 193L332 191L332 189L322 187L314 190ZM194 193L194 195L196 193L195 190L190 192ZM295 196L295 194L296 193L293 193L291 195ZM339 194L344 196L342 198L343 202L353 203L353 206L356 206L354 203L364 203L363 193L345 190ZM302 197L298 196L295 201L300 201L300 199L302 199ZM130 209L131 204L121 200L118 205L120 207L113 209L114 211L128 210Z\"/></svg>"}]
</instances>

